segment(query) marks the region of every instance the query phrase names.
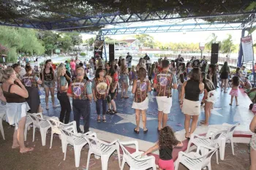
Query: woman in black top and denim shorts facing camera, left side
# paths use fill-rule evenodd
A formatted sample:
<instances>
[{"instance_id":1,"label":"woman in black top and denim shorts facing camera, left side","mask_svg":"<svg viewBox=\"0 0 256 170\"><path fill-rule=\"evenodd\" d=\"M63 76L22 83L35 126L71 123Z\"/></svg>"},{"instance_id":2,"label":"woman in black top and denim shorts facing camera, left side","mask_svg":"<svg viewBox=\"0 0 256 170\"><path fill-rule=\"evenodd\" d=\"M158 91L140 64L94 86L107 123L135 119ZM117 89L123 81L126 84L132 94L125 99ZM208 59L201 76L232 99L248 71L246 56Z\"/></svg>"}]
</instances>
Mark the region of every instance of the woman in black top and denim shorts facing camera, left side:
<instances>
[{"instance_id":1,"label":"woman in black top and denim shorts facing camera, left side","mask_svg":"<svg viewBox=\"0 0 256 170\"><path fill-rule=\"evenodd\" d=\"M49 59L45 61L45 68L42 69L42 85L45 88L46 109L49 109L48 107L49 90L50 90L51 101L53 102L53 108L56 107L54 102L55 82L56 82L55 71L52 66L52 61Z\"/></svg>"}]
</instances>

